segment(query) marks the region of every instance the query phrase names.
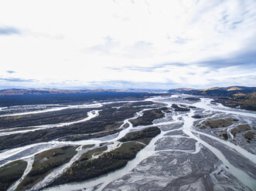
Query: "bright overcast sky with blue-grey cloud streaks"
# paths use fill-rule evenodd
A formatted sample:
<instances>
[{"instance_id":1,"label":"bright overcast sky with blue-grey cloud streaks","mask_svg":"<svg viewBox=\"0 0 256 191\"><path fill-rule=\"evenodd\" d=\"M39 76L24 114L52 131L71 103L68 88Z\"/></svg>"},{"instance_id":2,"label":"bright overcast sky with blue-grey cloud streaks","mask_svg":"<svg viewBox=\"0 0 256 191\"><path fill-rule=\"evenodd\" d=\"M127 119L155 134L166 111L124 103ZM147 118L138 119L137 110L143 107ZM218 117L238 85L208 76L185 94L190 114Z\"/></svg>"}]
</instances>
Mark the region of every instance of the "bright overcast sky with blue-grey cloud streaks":
<instances>
[{"instance_id":1,"label":"bright overcast sky with blue-grey cloud streaks","mask_svg":"<svg viewBox=\"0 0 256 191\"><path fill-rule=\"evenodd\" d=\"M256 86L256 1L0 1L0 88Z\"/></svg>"}]
</instances>

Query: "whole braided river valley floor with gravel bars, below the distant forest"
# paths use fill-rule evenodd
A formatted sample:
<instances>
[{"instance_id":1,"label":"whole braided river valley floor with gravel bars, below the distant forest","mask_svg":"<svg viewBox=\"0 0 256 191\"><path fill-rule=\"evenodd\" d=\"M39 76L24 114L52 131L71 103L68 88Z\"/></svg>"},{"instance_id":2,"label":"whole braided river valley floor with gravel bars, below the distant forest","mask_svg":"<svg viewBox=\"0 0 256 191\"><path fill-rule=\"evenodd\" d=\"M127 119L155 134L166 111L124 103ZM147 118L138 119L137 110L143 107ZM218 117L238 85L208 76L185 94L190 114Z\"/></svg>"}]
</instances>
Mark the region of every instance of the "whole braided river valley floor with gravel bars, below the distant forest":
<instances>
[{"instance_id":1,"label":"whole braided river valley floor with gravel bars, below the distant forest","mask_svg":"<svg viewBox=\"0 0 256 191\"><path fill-rule=\"evenodd\" d=\"M0 121L10 126L1 126L0 139L12 139L13 144L2 145L0 168L17 160L27 164L22 176L10 181L7 190L256 190L256 112L230 109L209 98L191 97L166 95L77 106L1 108ZM28 122L26 126L11 126L22 117L44 113L52 113L51 120L77 113L80 116L49 124L43 123L45 119L40 116L32 119L42 125L30 126ZM143 130L154 127L160 131L143 137L147 133ZM141 132L140 137L132 134L136 132ZM40 139L30 139L37 133ZM131 136L127 137L129 133ZM129 139L123 142L124 137ZM101 149L85 159L88 163L97 161L129 142L137 144L132 147L136 152L124 165L99 176L70 181L75 174L70 174L72 169L87 165L81 160L84 154ZM58 148L64 148L60 156L69 153L67 161L34 178L31 171L36 164L57 157L55 150L53 156L42 159L40 153ZM72 148L75 151L71 155Z\"/></svg>"}]
</instances>

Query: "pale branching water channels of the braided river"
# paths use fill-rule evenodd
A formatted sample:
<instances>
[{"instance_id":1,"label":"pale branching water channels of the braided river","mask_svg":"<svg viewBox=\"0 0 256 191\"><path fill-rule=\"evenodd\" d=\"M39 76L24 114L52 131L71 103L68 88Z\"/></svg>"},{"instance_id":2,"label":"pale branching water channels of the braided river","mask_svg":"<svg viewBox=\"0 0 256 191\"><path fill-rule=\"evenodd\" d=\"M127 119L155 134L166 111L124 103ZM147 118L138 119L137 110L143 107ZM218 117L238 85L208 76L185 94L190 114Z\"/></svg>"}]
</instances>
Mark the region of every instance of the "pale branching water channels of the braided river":
<instances>
[{"instance_id":1,"label":"pale branching water channels of the braided river","mask_svg":"<svg viewBox=\"0 0 256 191\"><path fill-rule=\"evenodd\" d=\"M96 144L98 146L102 142L108 142L113 144L108 145L108 150L105 152L108 152L112 149L117 148L120 146L118 139L121 139L121 137L125 136L128 132L134 131L134 130L141 130L148 128L150 126L168 126L172 125L174 123L180 123L182 126L180 126L177 129L169 129L165 131L161 131L161 133L158 136L155 136L155 138L152 139L152 141L148 144L148 146L145 146L144 149L142 149L140 152L138 152L137 156L135 159L132 159L131 161L128 162L128 164L121 169L118 169L112 173L108 173L104 176L99 176L94 179L89 179L80 183L67 183L63 184L60 186L53 186L51 188L45 189L45 190L74 190L74 189L84 189L84 188L94 188L94 190L102 190L104 189L105 186L107 186L109 183L113 182L116 179L120 179L122 176L125 176L126 174L130 173L132 169L135 169L136 166L138 166L139 163L141 163L144 159L147 159L149 156L157 156L159 155L160 152L167 152L167 151L176 151L176 152L186 152L191 155L196 154L200 152L200 149L202 147L205 147L209 149L215 156L217 156L217 159L219 159L221 165L217 166L217 169L225 169L228 173L230 173L232 176L234 176L237 180L239 180L241 183L243 183L245 186L248 186L251 188L251 190L254 190L256 188L256 181L254 178L252 178L247 172L245 172L241 168L237 168L237 166L234 166L233 164L230 163L230 161L224 156L224 153L220 151L217 147L214 147L210 145L208 142L204 141L200 135L202 136L207 136L210 138L213 142L220 142L221 144L224 144L224 146L227 146L227 148L230 149L232 152L238 152L245 158L249 159L251 163L256 164L256 155L254 155L251 152L248 152L246 149L241 148L241 146L234 145L232 142L228 142L224 139L220 139L217 136L214 136L213 134L210 134L209 132L202 132L198 129L196 129L193 126L193 123L196 121L196 119L193 119L192 116L198 111L198 109L203 110L202 113L208 113L210 115L216 115L217 113L223 113L224 115L235 115L237 116L238 119L243 119L245 122L251 122L251 120L256 120L256 112L248 112L244 111L241 109L230 109L225 106L222 106L220 104L211 104L212 99L207 99L207 98L201 98L200 102L179 102L179 100L172 100L173 98L178 98L179 96L182 95L172 95L170 97L154 97L150 99L145 99L145 101L152 101L152 102L160 102L166 104L166 106L171 109L171 106L173 103L175 104L182 104L185 106L195 106L196 109L190 109L189 112L172 112L172 120L170 120L169 117L167 117L168 113L166 113L166 117L162 119L162 121L155 120L152 125L149 126L138 126L138 127L133 127L131 122L129 120L131 119L136 119L139 116L143 115L143 112L148 109L142 109L142 111L137 112L136 115L130 119L125 119L123 124L121 125L120 129L121 132L118 132L116 136L106 136L106 139L88 139L88 140L81 140L81 141L76 141L76 142L69 142L69 141L51 141L51 142L40 142L36 144L32 144L29 146L22 146L20 148L16 149L9 149L6 150L2 153L0 153L0 161L4 161L5 159L9 159L10 157L14 157L18 155L21 152L29 151L31 149L31 152L27 152L26 155L23 155L23 159L32 159L31 157L34 156L38 152L42 152L42 150L46 149L52 149L53 147L60 147L64 145L77 145L80 146L79 149L77 149L77 155L73 156L72 159L70 159L70 162L56 168L53 170L52 173L50 173L48 176L46 176L43 181L40 183L36 184L36 186L33 186L32 189L40 189L43 186L46 186L48 183L53 181L54 178L58 177L67 169L69 166L72 165L79 157L86 152L87 150L81 149L81 146L87 145L87 144ZM104 104L104 103L101 103ZM106 103L105 103L106 104ZM100 105L97 105L100 106ZM96 106L95 106L96 107ZM60 108L59 108L60 109ZM172 109L173 110L173 109ZM88 112L88 117L86 119L82 120L90 120L93 117L99 115L98 110L94 110L91 112ZM211 116L212 117L212 116ZM247 119L247 118L250 118ZM81 122L80 120L79 122ZM71 122L72 123L72 122ZM64 123L63 123L64 124ZM63 125L62 124L62 125ZM65 123L67 124L67 123ZM125 129L123 128L125 124L128 124L128 127ZM59 124L59 126L62 126ZM49 125L51 126L51 125ZM186 136L183 135L177 135L173 136L176 137L176 139L186 137L186 139L193 139L196 141L195 143L195 149L194 150L180 150L180 149L164 149L164 150L155 150L155 146L157 142L161 139L163 139L166 136L166 133L169 132L175 132L175 131L182 131ZM171 137L171 136L169 136ZM29 158L30 157L30 158ZM13 159L9 159L8 162L6 163L11 163L13 160L15 160L15 157ZM0 164L1 165L1 164ZM3 165L3 164L2 164ZM31 164L30 164L31 165ZM27 167L26 173L31 169L31 167ZM26 173L23 174L23 176L26 176ZM24 177L22 178L24 179ZM21 178L21 179L22 179ZM14 190L15 186L19 185L19 179L9 190ZM215 180L216 181L216 180ZM214 182L214 181L213 181Z\"/></svg>"}]
</instances>

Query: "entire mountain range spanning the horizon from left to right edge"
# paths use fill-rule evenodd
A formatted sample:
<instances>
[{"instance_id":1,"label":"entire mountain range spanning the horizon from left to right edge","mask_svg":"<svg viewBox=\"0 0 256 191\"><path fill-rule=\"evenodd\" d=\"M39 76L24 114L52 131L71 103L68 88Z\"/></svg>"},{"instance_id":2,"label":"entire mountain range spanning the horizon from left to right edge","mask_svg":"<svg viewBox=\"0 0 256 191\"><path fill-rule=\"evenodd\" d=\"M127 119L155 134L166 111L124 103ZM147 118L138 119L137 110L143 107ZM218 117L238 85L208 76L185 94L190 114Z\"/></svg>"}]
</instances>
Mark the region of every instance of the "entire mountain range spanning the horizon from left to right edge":
<instances>
[{"instance_id":1,"label":"entire mountain range spanning the horizon from left to right edge","mask_svg":"<svg viewBox=\"0 0 256 191\"><path fill-rule=\"evenodd\" d=\"M97 92L167 92L162 89L2 89L0 96L5 95L82 95ZM208 89L169 89L169 94L200 95L213 98L224 106L256 111L256 87L229 86Z\"/></svg>"}]
</instances>

